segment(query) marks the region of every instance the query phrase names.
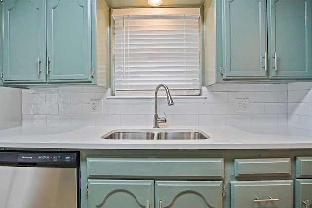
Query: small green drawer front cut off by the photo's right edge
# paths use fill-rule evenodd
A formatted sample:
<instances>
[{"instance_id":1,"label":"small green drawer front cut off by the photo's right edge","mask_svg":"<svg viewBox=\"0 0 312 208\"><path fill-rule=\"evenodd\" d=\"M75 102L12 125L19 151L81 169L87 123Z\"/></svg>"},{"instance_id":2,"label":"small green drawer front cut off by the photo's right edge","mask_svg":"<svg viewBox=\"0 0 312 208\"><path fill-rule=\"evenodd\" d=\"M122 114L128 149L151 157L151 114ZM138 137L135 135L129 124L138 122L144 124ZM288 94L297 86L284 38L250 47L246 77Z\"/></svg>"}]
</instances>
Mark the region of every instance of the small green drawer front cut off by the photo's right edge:
<instances>
[{"instance_id":1,"label":"small green drawer front cut off by the photo's right edge","mask_svg":"<svg viewBox=\"0 0 312 208\"><path fill-rule=\"evenodd\" d=\"M312 178L312 157L296 158L296 177Z\"/></svg>"}]
</instances>

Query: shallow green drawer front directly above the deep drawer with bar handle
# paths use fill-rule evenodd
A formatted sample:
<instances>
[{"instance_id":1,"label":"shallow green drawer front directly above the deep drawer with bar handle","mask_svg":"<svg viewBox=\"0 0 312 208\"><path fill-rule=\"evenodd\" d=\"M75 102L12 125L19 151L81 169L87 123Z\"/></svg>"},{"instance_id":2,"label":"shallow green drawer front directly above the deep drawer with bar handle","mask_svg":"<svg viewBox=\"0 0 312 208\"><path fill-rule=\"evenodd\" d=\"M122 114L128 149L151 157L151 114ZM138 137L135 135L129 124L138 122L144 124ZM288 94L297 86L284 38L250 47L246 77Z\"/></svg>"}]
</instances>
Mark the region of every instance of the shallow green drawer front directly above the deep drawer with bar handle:
<instances>
[{"instance_id":1,"label":"shallow green drawer front directly above the deep drawer with bar handle","mask_svg":"<svg viewBox=\"0 0 312 208\"><path fill-rule=\"evenodd\" d=\"M289 176L290 158L235 159L234 172L241 176Z\"/></svg>"}]
</instances>

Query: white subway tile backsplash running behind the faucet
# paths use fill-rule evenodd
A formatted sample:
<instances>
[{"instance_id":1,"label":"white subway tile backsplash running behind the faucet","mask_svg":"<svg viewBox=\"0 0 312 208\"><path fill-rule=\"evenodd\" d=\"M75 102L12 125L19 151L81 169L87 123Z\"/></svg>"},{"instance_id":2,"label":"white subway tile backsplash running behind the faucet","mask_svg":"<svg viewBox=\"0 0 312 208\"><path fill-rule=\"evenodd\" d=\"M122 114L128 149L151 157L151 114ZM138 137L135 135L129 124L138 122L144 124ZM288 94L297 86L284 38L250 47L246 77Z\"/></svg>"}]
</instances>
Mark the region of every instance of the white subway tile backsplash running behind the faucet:
<instances>
[{"instance_id":1,"label":"white subway tile backsplash running behind the faucet","mask_svg":"<svg viewBox=\"0 0 312 208\"><path fill-rule=\"evenodd\" d=\"M215 84L203 87L204 103L160 98L165 126L290 125L312 129L312 82L290 84ZM153 126L154 101L123 99L109 103L110 89L98 86L23 90L24 125ZM249 98L249 111L236 112L235 99ZM103 111L90 113L90 99L102 99Z\"/></svg>"}]
</instances>

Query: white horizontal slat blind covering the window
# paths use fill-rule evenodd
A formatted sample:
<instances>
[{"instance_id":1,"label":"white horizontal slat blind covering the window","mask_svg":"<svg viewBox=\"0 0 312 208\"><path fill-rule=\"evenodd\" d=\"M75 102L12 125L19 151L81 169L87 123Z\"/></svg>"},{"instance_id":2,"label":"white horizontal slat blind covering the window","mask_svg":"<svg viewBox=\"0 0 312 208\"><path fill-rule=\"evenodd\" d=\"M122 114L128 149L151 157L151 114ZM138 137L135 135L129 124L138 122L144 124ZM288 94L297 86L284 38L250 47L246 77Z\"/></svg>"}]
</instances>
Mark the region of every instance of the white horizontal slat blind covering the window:
<instances>
[{"instance_id":1,"label":"white horizontal slat blind covering the window","mask_svg":"<svg viewBox=\"0 0 312 208\"><path fill-rule=\"evenodd\" d=\"M116 96L151 96L161 83L172 95L199 95L200 10L189 9L176 8L175 14L113 10Z\"/></svg>"}]
</instances>

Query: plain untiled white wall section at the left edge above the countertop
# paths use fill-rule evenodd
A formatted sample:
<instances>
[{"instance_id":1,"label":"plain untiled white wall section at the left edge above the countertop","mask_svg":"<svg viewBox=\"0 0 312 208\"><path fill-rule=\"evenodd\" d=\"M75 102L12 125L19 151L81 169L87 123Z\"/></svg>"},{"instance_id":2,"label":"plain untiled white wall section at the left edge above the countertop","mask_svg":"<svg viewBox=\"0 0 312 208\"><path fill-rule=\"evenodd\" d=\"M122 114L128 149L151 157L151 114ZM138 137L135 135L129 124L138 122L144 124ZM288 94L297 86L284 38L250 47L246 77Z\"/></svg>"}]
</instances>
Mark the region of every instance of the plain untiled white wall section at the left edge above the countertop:
<instances>
[{"instance_id":1,"label":"plain untiled white wall section at the left edge above the countertop","mask_svg":"<svg viewBox=\"0 0 312 208\"><path fill-rule=\"evenodd\" d=\"M22 91L0 87L0 129L22 125Z\"/></svg>"}]
</instances>

